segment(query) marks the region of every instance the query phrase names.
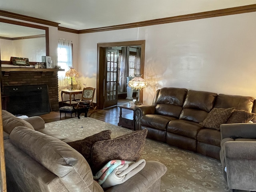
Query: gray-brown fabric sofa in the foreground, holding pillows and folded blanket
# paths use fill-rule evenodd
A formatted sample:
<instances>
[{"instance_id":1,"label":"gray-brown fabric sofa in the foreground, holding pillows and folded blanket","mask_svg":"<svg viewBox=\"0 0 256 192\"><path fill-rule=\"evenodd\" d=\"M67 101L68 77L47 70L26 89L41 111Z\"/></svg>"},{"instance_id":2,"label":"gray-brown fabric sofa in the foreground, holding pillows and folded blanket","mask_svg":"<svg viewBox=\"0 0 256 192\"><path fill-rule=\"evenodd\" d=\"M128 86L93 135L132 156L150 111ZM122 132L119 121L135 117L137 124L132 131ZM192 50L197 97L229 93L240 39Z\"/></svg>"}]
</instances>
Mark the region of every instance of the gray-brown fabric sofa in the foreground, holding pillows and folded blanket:
<instances>
[{"instance_id":1,"label":"gray-brown fabric sofa in the foreground, holding pillows and folded blanket","mask_svg":"<svg viewBox=\"0 0 256 192\"><path fill-rule=\"evenodd\" d=\"M70 140L46 135L38 116L19 119L2 110L8 192L159 192L166 166L147 161L132 178L102 189ZM65 142L64 142L65 141Z\"/></svg>"}]
</instances>

